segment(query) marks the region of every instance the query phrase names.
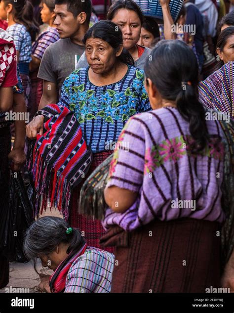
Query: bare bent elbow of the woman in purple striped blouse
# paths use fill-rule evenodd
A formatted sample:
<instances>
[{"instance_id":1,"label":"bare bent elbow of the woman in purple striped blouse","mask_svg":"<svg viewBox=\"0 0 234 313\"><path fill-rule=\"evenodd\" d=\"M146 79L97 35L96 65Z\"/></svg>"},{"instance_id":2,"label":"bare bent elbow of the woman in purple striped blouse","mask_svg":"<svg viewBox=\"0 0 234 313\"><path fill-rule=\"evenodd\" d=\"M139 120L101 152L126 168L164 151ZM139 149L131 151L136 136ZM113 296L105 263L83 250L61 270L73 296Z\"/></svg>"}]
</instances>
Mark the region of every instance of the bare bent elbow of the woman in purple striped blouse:
<instances>
[{"instance_id":1,"label":"bare bent elbow of the woman in purple striped blouse","mask_svg":"<svg viewBox=\"0 0 234 313\"><path fill-rule=\"evenodd\" d=\"M124 213L137 198L137 192L111 186L104 190L106 204L116 213Z\"/></svg>"}]
</instances>

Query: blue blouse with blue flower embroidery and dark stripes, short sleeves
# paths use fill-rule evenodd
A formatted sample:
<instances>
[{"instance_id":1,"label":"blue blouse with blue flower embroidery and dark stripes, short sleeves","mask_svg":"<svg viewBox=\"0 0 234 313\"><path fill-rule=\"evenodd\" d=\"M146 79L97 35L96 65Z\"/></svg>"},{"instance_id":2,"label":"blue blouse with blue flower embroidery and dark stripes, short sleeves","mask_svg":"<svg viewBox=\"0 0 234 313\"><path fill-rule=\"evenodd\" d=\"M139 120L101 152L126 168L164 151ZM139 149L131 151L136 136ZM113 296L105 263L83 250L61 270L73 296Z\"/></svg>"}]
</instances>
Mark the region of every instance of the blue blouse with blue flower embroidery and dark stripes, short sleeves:
<instances>
[{"instance_id":1,"label":"blue blouse with blue flower embroidery and dark stripes, short sleeves","mask_svg":"<svg viewBox=\"0 0 234 313\"><path fill-rule=\"evenodd\" d=\"M81 68L65 80L58 104L74 111L87 144L96 153L111 150L127 120L151 107L143 71L128 65L119 82L98 87L89 81L88 70Z\"/></svg>"}]
</instances>

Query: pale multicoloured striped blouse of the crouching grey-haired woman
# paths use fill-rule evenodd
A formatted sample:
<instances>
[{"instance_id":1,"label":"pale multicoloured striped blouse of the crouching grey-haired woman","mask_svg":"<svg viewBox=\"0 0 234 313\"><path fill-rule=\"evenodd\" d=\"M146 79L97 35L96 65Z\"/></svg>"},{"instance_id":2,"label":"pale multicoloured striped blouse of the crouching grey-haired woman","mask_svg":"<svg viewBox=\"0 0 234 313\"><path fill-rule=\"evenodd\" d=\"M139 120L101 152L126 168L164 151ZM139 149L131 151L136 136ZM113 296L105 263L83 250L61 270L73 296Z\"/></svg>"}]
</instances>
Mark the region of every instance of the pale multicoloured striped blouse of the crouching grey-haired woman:
<instances>
[{"instance_id":1,"label":"pale multicoloured striped blouse of the crouching grey-haired woman","mask_svg":"<svg viewBox=\"0 0 234 313\"><path fill-rule=\"evenodd\" d=\"M69 269L65 292L110 292L114 261L112 253L88 247Z\"/></svg>"}]
</instances>

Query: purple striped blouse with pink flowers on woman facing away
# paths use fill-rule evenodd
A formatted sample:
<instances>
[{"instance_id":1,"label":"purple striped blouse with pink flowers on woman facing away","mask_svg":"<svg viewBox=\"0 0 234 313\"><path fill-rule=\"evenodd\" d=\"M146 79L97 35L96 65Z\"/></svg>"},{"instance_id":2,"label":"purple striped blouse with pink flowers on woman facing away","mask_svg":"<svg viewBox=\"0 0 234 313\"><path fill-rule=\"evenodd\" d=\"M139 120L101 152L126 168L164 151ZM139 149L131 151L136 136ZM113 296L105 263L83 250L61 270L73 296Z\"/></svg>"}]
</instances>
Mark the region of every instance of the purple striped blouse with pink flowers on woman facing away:
<instances>
[{"instance_id":1,"label":"purple striped blouse with pink flowers on woman facing away","mask_svg":"<svg viewBox=\"0 0 234 313\"><path fill-rule=\"evenodd\" d=\"M193 155L189 124L176 108L132 117L119 137L108 186L138 192L138 198L123 214L107 209L103 226L133 230L154 219L186 217L222 223L223 133L216 121L207 121L207 127L214 138Z\"/></svg>"}]
</instances>

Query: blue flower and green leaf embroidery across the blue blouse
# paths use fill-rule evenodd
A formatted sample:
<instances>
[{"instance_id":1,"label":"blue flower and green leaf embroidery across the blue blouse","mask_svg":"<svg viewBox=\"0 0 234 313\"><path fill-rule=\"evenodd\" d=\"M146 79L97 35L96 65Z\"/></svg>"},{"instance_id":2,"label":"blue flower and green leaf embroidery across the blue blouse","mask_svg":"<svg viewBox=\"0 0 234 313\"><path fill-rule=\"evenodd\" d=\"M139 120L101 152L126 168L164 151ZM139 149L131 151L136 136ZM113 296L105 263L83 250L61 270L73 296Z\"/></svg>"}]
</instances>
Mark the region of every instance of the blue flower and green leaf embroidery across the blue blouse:
<instances>
[{"instance_id":1,"label":"blue flower and green leaf embroidery across the blue blouse","mask_svg":"<svg viewBox=\"0 0 234 313\"><path fill-rule=\"evenodd\" d=\"M68 94L70 92L70 110L79 116L78 122L80 124L84 123L85 120L96 120L98 116L112 124L114 121L127 121L137 113L138 93L141 89L143 91L141 99L146 100L148 98L146 90L142 86L144 75L140 70L136 70L136 78L132 82L132 87L128 87L122 92L106 89L106 92L98 97L94 90L85 90L85 84L73 86L72 90L70 89L71 84L77 81L78 72L79 70L73 72L66 79L64 87Z\"/></svg>"}]
</instances>

